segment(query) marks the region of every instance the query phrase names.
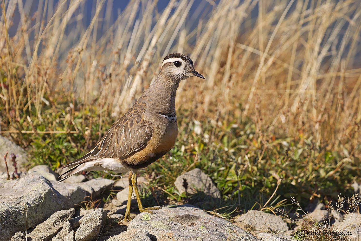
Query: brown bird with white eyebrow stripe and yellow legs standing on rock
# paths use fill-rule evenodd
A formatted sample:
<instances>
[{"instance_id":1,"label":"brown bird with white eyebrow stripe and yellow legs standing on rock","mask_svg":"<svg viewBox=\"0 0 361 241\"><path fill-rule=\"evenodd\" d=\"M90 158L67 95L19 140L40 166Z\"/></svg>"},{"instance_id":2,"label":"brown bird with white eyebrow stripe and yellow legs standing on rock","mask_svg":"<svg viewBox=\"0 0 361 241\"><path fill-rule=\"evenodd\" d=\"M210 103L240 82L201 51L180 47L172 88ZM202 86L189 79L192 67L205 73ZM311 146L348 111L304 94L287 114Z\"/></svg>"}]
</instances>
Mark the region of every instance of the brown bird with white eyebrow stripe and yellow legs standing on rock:
<instances>
[{"instance_id":1,"label":"brown bird with white eyebrow stripe and yellow legs standing on rock","mask_svg":"<svg viewBox=\"0 0 361 241\"><path fill-rule=\"evenodd\" d=\"M83 171L129 172L129 193L124 220L130 218L130 201L134 189L140 212L155 214L144 208L136 184L137 172L165 155L178 135L175 94L183 79L203 78L193 61L182 53L171 53L162 61L156 80L143 92L130 109L119 118L93 149L74 162L60 176L60 181Z\"/></svg>"}]
</instances>

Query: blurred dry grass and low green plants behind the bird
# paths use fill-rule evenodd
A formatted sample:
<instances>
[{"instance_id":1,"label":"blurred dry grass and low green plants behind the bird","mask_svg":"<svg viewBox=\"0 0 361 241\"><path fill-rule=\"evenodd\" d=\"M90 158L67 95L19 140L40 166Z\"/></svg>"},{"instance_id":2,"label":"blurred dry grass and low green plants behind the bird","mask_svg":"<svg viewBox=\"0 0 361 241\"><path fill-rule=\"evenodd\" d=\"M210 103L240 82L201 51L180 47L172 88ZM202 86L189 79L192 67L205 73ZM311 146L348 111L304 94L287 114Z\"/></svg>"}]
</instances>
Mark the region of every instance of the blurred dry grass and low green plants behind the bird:
<instances>
[{"instance_id":1,"label":"blurred dry grass and low green plants behind the bird","mask_svg":"<svg viewBox=\"0 0 361 241\"><path fill-rule=\"evenodd\" d=\"M180 52L205 80L179 85L178 139L142 170L144 205L199 202L174 188L196 167L222 193L203 207L225 218L327 205L360 183L360 30L358 0L2 0L1 135L27 167L58 169Z\"/></svg>"}]
</instances>

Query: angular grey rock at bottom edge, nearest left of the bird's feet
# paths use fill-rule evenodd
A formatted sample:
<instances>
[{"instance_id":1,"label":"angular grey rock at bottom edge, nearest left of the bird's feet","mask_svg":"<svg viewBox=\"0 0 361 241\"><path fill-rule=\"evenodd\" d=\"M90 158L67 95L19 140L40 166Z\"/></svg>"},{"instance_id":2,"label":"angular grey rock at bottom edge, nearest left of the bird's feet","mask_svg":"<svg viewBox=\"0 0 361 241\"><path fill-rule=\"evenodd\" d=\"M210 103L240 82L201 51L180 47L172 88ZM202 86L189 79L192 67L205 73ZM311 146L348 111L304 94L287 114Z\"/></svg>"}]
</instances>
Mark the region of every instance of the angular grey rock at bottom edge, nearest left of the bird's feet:
<instances>
[{"instance_id":1,"label":"angular grey rock at bottom edge, nearest left of the bird's feet","mask_svg":"<svg viewBox=\"0 0 361 241\"><path fill-rule=\"evenodd\" d=\"M103 208L95 210L92 214L87 216L77 232L75 233L76 241L92 241L99 236L100 228L104 223L106 215L104 214Z\"/></svg>"}]
</instances>

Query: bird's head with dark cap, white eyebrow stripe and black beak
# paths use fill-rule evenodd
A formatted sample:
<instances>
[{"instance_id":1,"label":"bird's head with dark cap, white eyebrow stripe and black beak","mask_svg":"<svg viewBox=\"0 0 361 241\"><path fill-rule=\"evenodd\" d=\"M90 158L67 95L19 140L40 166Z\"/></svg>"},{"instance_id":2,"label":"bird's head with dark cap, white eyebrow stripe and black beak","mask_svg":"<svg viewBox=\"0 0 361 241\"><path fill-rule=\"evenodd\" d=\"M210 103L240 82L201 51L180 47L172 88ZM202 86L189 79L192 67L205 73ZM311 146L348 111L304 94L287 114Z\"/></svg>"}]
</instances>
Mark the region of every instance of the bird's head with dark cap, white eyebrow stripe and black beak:
<instances>
[{"instance_id":1,"label":"bird's head with dark cap, white eyebrow stripe and black beak","mask_svg":"<svg viewBox=\"0 0 361 241\"><path fill-rule=\"evenodd\" d=\"M191 58L182 53L171 53L167 55L162 62L160 72L176 81L181 81L192 76L204 79L203 75L194 69Z\"/></svg>"}]
</instances>

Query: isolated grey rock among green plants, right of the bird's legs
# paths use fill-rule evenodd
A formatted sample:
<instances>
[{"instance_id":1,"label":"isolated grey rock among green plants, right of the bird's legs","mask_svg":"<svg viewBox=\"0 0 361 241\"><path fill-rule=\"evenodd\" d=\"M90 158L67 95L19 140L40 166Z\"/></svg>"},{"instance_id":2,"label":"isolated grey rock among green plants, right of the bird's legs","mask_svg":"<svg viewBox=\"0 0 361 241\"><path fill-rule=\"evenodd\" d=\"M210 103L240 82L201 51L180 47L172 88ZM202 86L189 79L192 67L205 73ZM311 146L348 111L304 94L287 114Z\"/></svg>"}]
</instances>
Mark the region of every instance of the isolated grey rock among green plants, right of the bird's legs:
<instances>
[{"instance_id":1,"label":"isolated grey rock among green plants, right of the bird's legs","mask_svg":"<svg viewBox=\"0 0 361 241\"><path fill-rule=\"evenodd\" d=\"M221 193L213 184L210 177L199 168L195 168L177 177L174 185L179 193L187 192L193 194L197 193L197 191L202 191L213 198L221 197Z\"/></svg>"}]
</instances>

